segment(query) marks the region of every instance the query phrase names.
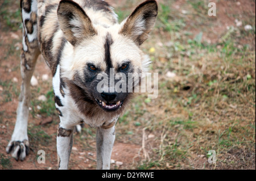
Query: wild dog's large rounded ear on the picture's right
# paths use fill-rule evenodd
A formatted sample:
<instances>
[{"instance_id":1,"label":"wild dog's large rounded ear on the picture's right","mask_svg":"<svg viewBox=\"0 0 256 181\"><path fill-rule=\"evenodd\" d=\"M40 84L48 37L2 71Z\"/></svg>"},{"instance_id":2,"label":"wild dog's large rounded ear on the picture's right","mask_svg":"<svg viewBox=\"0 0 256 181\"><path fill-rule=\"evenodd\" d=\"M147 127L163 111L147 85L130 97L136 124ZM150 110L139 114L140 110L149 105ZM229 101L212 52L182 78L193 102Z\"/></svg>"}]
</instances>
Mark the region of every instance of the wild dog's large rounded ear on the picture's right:
<instances>
[{"instance_id":1,"label":"wild dog's large rounded ear on the picture's right","mask_svg":"<svg viewBox=\"0 0 256 181\"><path fill-rule=\"evenodd\" d=\"M119 33L132 39L137 45L141 45L148 38L148 33L155 25L158 5L154 0L144 1L131 15L123 20Z\"/></svg>"}]
</instances>

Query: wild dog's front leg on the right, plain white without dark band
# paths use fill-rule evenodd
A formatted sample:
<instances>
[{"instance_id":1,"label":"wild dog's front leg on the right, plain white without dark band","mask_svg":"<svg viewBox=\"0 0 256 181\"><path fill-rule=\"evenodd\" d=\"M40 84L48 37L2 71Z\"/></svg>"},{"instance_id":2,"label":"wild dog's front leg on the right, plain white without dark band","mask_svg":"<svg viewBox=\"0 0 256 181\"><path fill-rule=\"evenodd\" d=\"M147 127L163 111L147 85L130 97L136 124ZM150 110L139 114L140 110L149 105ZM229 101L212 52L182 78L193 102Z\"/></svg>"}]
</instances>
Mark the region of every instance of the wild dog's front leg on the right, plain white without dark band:
<instances>
[{"instance_id":1,"label":"wild dog's front leg on the right, plain white without dark band","mask_svg":"<svg viewBox=\"0 0 256 181\"><path fill-rule=\"evenodd\" d=\"M109 170L110 157L115 141L115 126L111 128L98 127L96 133L97 169Z\"/></svg>"}]
</instances>

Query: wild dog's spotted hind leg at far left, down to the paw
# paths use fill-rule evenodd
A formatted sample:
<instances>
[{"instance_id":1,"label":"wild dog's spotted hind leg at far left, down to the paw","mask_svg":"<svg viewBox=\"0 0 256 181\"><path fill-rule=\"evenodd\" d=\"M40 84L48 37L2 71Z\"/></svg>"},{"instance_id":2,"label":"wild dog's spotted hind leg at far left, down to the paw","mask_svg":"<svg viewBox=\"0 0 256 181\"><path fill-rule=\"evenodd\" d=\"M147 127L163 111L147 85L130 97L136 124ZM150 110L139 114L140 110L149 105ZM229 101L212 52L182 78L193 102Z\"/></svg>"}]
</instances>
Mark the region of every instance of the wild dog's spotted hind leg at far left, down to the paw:
<instances>
[{"instance_id":1,"label":"wild dog's spotted hind leg at far left, down to the paw","mask_svg":"<svg viewBox=\"0 0 256 181\"><path fill-rule=\"evenodd\" d=\"M23 159L29 152L27 136L28 107L30 105L30 79L35 69L36 60L40 54L37 27L36 27L36 0L20 1L23 20L23 48L20 55L20 73L22 85L20 86L19 104L17 108L16 123L11 140L6 147L16 160Z\"/></svg>"}]
</instances>

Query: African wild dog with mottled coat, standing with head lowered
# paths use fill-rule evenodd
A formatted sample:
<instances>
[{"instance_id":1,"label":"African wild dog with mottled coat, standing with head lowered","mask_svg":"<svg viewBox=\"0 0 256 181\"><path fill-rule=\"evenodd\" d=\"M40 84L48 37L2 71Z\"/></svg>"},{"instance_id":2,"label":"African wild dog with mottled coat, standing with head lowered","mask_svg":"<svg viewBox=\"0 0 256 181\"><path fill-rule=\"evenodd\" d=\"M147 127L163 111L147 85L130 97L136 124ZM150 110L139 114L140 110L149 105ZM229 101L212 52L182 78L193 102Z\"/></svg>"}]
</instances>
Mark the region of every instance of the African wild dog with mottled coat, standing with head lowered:
<instances>
[{"instance_id":1,"label":"African wild dog with mottled coat, standing with head lowered","mask_svg":"<svg viewBox=\"0 0 256 181\"><path fill-rule=\"evenodd\" d=\"M38 7L42 10L38 10ZM28 154L30 79L42 53L53 76L59 169L68 169L73 130L86 123L97 128L97 169L110 168L115 123L132 96L130 92L96 89L100 73L142 73L148 56L139 49L154 27L158 6L148 0L117 23L112 7L101 0L21 0L23 49L22 85L13 135L7 153L24 160ZM40 12L40 14L39 14Z\"/></svg>"}]
</instances>

